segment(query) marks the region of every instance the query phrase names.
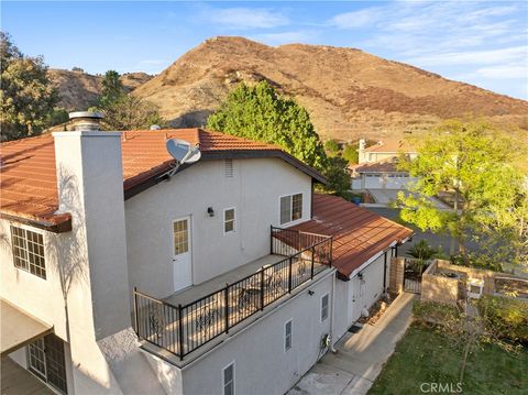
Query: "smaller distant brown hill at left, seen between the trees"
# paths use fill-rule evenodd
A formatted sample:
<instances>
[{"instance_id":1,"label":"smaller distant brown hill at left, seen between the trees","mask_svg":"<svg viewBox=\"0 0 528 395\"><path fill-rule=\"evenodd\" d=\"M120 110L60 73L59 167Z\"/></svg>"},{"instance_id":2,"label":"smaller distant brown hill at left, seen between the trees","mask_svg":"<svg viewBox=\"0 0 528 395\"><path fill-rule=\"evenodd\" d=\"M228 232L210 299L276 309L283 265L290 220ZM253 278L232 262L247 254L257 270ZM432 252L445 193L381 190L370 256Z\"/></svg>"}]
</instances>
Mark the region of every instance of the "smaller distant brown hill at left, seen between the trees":
<instances>
[{"instance_id":1,"label":"smaller distant brown hill at left, seen between the trees","mask_svg":"<svg viewBox=\"0 0 528 395\"><path fill-rule=\"evenodd\" d=\"M50 68L47 75L58 87L58 96L61 97L58 106L66 108L68 111L88 109L101 94L102 76L58 68ZM145 73L128 73L123 74L120 79L127 92L131 92L151 78L152 76Z\"/></svg>"}]
</instances>

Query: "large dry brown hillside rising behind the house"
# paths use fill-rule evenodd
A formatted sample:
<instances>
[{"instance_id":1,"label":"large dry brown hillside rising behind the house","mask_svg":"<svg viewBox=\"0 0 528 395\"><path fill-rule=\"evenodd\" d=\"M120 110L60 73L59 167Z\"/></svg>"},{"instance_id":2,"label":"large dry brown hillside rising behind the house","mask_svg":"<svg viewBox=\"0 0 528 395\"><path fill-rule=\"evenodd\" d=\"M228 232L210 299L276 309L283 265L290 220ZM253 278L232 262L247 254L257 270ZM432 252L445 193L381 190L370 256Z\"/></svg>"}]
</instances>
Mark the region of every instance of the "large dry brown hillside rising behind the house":
<instances>
[{"instance_id":1,"label":"large dry brown hillside rising behind the house","mask_svg":"<svg viewBox=\"0 0 528 395\"><path fill-rule=\"evenodd\" d=\"M195 127L206 122L237 84L262 79L305 106L323 138L381 138L470 114L528 124L527 101L360 50L272 47L242 37L207 40L133 95L160 106L175 125Z\"/></svg>"}]
</instances>

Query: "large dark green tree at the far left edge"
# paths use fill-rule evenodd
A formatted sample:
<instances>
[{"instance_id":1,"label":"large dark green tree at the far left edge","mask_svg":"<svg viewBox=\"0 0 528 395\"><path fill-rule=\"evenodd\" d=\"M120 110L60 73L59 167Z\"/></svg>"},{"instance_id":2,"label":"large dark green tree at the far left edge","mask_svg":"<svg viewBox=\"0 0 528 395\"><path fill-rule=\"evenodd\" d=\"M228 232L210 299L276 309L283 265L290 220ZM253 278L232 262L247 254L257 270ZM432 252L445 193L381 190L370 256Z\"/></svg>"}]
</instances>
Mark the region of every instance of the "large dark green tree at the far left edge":
<instances>
[{"instance_id":1,"label":"large dark green tree at the far left edge","mask_svg":"<svg viewBox=\"0 0 528 395\"><path fill-rule=\"evenodd\" d=\"M0 56L1 140L40 134L58 101L44 59L24 56L4 32L0 32Z\"/></svg>"}]
</instances>

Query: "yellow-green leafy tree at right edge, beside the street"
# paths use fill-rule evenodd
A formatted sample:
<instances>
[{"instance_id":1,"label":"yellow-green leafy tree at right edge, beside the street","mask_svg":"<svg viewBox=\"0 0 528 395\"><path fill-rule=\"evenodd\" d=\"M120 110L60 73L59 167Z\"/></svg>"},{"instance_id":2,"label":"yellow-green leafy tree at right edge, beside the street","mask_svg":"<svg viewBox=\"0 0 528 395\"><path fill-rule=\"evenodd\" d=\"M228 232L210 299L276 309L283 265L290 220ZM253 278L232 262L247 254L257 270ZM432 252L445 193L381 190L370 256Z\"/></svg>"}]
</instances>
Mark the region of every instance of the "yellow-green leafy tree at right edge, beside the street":
<instances>
[{"instance_id":1,"label":"yellow-green leafy tree at right edge, beside the street","mask_svg":"<svg viewBox=\"0 0 528 395\"><path fill-rule=\"evenodd\" d=\"M526 152L521 143L484 122L451 120L415 145L417 158L399 161L402 171L417 177L411 194L398 194L402 219L422 230L449 232L466 264L469 240L483 249L493 241L507 245L502 259L516 260L526 234L527 190L517 165ZM440 191L453 197L451 210L431 201Z\"/></svg>"}]
</instances>

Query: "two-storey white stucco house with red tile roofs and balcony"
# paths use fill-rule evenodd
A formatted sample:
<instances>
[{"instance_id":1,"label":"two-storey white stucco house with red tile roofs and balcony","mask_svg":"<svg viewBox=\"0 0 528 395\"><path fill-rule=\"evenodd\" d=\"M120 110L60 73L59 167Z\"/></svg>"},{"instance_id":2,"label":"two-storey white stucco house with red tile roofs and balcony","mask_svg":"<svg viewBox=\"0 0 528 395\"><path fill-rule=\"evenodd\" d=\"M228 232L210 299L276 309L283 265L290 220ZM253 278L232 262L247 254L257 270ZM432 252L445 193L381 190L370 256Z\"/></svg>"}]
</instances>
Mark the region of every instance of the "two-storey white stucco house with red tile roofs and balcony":
<instances>
[{"instance_id":1,"label":"two-storey white stucco house with red tile roofs and balcony","mask_svg":"<svg viewBox=\"0 0 528 395\"><path fill-rule=\"evenodd\" d=\"M201 158L175 168L169 139ZM411 231L271 144L201 129L1 144L2 356L63 394L282 394Z\"/></svg>"}]
</instances>

